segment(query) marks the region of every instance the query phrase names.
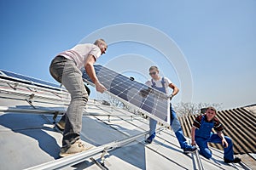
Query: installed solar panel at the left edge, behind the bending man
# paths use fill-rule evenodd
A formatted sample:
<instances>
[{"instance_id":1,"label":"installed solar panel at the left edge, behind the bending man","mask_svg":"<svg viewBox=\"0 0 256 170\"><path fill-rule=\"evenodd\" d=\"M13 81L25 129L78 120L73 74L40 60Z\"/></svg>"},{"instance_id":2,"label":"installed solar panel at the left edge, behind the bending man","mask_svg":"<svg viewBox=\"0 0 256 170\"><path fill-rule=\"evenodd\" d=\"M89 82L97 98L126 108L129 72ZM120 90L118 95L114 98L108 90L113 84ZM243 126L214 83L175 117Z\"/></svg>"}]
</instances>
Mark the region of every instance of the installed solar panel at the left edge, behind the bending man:
<instances>
[{"instance_id":1,"label":"installed solar panel at the left edge, behind the bending man","mask_svg":"<svg viewBox=\"0 0 256 170\"><path fill-rule=\"evenodd\" d=\"M30 83L30 84L35 84L35 85L38 85L40 87L42 87L42 85L43 86L45 85L45 86L48 86L48 87L60 88L60 85L57 85L57 84L54 84L54 83L51 83L51 82L45 82L43 80L39 80L39 79L36 79L36 78L33 78L33 77L26 77L26 76L16 74L16 73L10 72L10 71L0 70L0 72L1 72L0 76L15 78L16 80L23 81L23 82ZM44 86L44 88L46 88L45 86Z\"/></svg>"}]
</instances>

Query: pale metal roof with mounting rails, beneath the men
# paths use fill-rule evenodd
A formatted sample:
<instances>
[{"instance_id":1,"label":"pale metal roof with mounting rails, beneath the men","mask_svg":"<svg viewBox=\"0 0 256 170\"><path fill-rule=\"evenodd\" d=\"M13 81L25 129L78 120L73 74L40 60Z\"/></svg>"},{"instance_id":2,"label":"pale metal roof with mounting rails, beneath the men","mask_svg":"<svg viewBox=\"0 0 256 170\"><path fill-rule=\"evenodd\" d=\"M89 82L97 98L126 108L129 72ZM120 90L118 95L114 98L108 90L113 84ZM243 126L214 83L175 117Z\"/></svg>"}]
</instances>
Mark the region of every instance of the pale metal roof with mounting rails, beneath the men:
<instances>
[{"instance_id":1,"label":"pale metal roof with mounting rails, beneath the men","mask_svg":"<svg viewBox=\"0 0 256 170\"><path fill-rule=\"evenodd\" d=\"M159 125L154 142L145 144L148 119L93 99L84 110L81 139L94 147L60 158L62 134L53 116L65 111L68 99L65 90L0 80L0 169L250 169L224 163L223 151L214 148L211 160L185 155L172 130Z\"/></svg>"}]
</instances>

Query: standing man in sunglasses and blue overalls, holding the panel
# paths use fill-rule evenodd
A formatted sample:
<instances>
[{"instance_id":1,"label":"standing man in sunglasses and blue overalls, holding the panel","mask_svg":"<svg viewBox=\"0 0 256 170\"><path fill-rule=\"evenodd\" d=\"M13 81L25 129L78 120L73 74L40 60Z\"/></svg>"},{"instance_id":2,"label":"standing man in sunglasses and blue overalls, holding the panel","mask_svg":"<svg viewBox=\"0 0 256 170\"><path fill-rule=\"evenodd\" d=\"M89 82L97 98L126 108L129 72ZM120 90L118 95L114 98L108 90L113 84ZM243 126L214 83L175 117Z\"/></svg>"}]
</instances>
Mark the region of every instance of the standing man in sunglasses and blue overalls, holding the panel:
<instances>
[{"instance_id":1,"label":"standing man in sunglasses and blue overalls, holding the panel","mask_svg":"<svg viewBox=\"0 0 256 170\"><path fill-rule=\"evenodd\" d=\"M177 86L175 86L167 77L160 77L159 70L156 66L151 66L149 68L149 75L152 77L152 79L146 82L146 85L154 89L160 90L165 94L169 94L168 88L172 88L171 99L173 96L175 96L178 93L179 89L177 88ZM177 137L180 147L183 149L183 152L186 154L189 152L194 152L196 150L196 147L187 143L185 137L183 136L183 130L177 119L176 113L172 109L172 105L170 105L170 114L171 114L171 127ZM151 144L155 137L156 124L157 124L157 121L155 121L152 118L149 119L149 128L150 128L149 137L145 141L148 144Z\"/></svg>"}]
</instances>

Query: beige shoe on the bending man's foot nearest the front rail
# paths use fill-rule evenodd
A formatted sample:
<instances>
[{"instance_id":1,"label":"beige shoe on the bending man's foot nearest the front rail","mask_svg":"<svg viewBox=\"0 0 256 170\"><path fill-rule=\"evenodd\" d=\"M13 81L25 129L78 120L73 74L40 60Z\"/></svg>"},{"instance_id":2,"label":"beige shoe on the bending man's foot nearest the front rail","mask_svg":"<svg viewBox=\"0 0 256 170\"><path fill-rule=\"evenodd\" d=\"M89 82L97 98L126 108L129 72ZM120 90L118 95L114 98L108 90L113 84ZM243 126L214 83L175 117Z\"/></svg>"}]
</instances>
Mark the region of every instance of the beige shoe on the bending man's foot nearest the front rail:
<instances>
[{"instance_id":1,"label":"beige shoe on the bending man's foot nearest the front rail","mask_svg":"<svg viewBox=\"0 0 256 170\"><path fill-rule=\"evenodd\" d=\"M70 147L61 147L60 156L72 156L74 154L77 154L79 152L90 150L93 147L93 145L90 144L83 144L82 140L79 139L75 143L71 144Z\"/></svg>"}]
</instances>

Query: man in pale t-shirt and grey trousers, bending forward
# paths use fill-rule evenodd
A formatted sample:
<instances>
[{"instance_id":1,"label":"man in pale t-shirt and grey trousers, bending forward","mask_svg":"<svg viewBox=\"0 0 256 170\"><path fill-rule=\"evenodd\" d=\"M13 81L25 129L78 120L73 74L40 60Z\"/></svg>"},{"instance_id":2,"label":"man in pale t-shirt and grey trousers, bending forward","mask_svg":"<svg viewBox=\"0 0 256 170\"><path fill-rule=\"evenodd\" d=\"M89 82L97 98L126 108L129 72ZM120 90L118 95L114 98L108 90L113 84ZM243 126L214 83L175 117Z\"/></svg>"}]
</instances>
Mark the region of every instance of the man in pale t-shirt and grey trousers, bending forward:
<instances>
[{"instance_id":1,"label":"man in pale t-shirt and grey trousers, bending forward","mask_svg":"<svg viewBox=\"0 0 256 170\"><path fill-rule=\"evenodd\" d=\"M82 72L84 67L96 91L103 93L106 88L98 81L93 64L108 48L107 43L98 39L94 44L84 43L57 54L49 66L49 72L57 82L67 88L71 94L71 102L66 112L60 156L69 156L88 150L80 140L82 129L82 113L88 100L88 92L84 87Z\"/></svg>"}]
</instances>

